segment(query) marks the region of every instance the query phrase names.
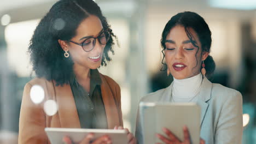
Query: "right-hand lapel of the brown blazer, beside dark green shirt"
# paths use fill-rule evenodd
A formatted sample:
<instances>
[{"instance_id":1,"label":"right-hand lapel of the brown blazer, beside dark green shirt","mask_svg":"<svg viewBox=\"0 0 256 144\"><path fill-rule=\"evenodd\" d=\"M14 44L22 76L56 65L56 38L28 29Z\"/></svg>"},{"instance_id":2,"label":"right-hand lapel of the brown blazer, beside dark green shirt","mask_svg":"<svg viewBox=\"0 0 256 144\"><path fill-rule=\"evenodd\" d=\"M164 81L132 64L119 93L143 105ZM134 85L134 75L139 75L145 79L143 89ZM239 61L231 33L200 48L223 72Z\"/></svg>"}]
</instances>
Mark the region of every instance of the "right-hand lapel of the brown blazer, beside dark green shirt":
<instances>
[{"instance_id":1,"label":"right-hand lapel of the brown blazer, beside dark green shirt","mask_svg":"<svg viewBox=\"0 0 256 144\"><path fill-rule=\"evenodd\" d=\"M105 106L107 121L108 121L108 128L113 129L117 123L120 124L120 119L117 111L117 105L115 104L115 98L110 90L108 82L104 77L101 75L101 94L102 100Z\"/></svg>"}]
</instances>

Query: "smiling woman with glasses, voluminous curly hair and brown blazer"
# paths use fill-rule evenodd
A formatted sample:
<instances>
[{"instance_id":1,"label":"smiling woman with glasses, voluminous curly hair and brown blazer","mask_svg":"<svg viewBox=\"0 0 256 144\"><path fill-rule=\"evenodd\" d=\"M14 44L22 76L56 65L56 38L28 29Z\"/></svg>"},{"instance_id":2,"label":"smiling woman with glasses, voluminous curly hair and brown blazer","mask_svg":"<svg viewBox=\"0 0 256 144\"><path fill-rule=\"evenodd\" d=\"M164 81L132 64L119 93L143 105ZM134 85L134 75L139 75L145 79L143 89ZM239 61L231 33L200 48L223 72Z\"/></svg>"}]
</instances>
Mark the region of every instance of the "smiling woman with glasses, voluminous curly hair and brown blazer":
<instances>
[{"instance_id":1,"label":"smiling woman with glasses, voluminous curly hair and brown blazer","mask_svg":"<svg viewBox=\"0 0 256 144\"><path fill-rule=\"evenodd\" d=\"M60 0L39 22L28 48L37 77L26 83L19 122L19 143L50 143L45 127L123 129L120 87L98 72L111 61L113 34L100 7L92 0ZM44 99L33 103L33 86L44 89ZM54 100L55 115L44 111ZM47 107L46 107L47 108ZM115 127L117 128L117 127ZM102 136L80 143L111 143ZM135 137L127 133L129 143ZM71 140L63 139L66 143Z\"/></svg>"}]
</instances>

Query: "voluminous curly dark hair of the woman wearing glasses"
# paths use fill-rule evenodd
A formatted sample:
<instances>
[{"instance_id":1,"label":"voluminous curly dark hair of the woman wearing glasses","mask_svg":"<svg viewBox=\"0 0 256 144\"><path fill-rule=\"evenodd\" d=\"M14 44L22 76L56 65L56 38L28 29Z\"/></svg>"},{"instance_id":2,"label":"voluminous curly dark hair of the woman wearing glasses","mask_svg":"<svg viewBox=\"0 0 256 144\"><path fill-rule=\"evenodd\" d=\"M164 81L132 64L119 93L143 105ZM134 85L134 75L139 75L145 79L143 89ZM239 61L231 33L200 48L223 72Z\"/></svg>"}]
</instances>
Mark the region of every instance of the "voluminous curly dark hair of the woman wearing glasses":
<instances>
[{"instance_id":1,"label":"voluminous curly dark hair of the woman wearing glasses","mask_svg":"<svg viewBox=\"0 0 256 144\"><path fill-rule=\"evenodd\" d=\"M92 0L60 0L40 20L28 47L33 71L38 77L54 80L56 85L69 83L74 63L71 57L63 56L64 52L58 40L72 39L79 24L89 15L97 16L103 29L110 29L100 7ZM102 57L103 66L111 61L109 52L114 55L114 38L117 39L113 32L110 32Z\"/></svg>"}]
</instances>

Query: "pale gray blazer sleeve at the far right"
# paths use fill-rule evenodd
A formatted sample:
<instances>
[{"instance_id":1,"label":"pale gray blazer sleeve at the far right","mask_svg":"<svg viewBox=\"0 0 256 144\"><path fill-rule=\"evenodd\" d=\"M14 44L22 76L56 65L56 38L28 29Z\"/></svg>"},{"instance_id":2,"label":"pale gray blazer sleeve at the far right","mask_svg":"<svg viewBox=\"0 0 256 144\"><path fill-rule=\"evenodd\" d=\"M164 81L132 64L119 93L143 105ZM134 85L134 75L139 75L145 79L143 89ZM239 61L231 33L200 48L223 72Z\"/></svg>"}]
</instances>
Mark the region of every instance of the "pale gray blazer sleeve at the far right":
<instances>
[{"instance_id":1,"label":"pale gray blazer sleeve at the far right","mask_svg":"<svg viewBox=\"0 0 256 144\"><path fill-rule=\"evenodd\" d=\"M232 92L224 101L216 127L214 143L241 143L243 135L242 95Z\"/></svg>"}]
</instances>

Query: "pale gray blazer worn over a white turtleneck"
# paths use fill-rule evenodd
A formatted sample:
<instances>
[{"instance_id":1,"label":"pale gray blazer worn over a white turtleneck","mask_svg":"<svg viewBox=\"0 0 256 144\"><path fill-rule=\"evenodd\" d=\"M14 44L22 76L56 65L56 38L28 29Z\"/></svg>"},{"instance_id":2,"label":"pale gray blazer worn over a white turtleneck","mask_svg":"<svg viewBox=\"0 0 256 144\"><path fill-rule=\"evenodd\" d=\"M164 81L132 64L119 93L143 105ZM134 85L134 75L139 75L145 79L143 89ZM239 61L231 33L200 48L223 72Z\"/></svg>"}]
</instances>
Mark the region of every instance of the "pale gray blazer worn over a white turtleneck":
<instances>
[{"instance_id":1,"label":"pale gray blazer worn over a white turtleneck","mask_svg":"<svg viewBox=\"0 0 256 144\"><path fill-rule=\"evenodd\" d=\"M150 93L141 101L171 101L172 85ZM197 104L201 106L200 136L210 143L241 143L243 135L242 95L240 92L203 79ZM150 121L150 120L149 120ZM143 128L137 114L135 136L143 143Z\"/></svg>"}]
</instances>

